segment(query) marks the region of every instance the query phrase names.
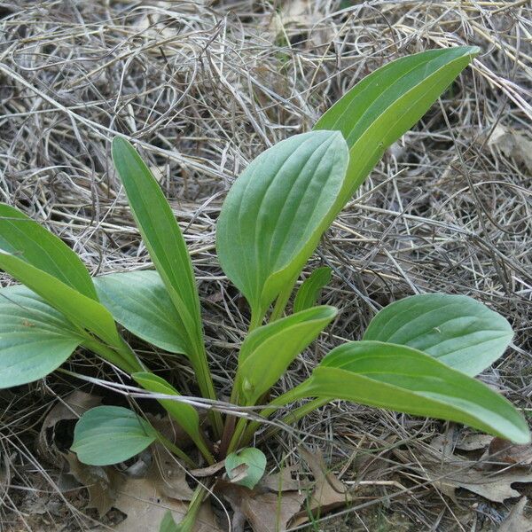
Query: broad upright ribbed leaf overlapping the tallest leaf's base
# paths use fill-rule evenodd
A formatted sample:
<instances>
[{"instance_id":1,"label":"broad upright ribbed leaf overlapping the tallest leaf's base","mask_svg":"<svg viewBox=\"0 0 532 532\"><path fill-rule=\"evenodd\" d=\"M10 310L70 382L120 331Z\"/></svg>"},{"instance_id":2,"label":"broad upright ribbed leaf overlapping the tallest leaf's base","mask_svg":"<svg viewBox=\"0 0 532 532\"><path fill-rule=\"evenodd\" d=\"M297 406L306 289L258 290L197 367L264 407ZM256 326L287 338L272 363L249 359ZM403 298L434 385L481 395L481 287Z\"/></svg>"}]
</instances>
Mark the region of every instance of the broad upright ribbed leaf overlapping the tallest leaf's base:
<instances>
[{"instance_id":1,"label":"broad upright ribbed leaf overlapping the tallest leaf's base","mask_svg":"<svg viewBox=\"0 0 532 532\"><path fill-rule=\"evenodd\" d=\"M348 165L339 132L288 138L261 153L232 185L216 230L223 271L262 317L291 286L326 229Z\"/></svg>"}]
</instances>

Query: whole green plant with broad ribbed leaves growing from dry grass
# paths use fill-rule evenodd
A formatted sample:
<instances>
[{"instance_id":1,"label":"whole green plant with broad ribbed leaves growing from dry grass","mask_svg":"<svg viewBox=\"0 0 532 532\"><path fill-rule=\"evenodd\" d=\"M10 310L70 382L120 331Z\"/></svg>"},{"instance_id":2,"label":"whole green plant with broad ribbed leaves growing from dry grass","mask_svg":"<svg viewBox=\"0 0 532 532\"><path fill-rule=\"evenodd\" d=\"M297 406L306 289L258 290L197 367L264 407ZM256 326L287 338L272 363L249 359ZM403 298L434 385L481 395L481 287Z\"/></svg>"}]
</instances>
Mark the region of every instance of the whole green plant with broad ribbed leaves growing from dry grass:
<instances>
[{"instance_id":1,"label":"whole green plant with broad ribbed leaves growing from dry grass","mask_svg":"<svg viewBox=\"0 0 532 532\"><path fill-rule=\"evenodd\" d=\"M284 419L294 423L322 404L343 399L457 421L512 442L529 441L527 423L512 404L473 379L504 353L512 329L504 317L461 295L422 294L392 303L372 319L362 340L332 349L309 379L269 399L270 388L295 357L337 315L337 309L316 306L331 276L326 268L302 283L293 313L286 313L305 263L387 146L419 120L477 52L467 47L426 51L383 66L349 90L313 131L274 145L233 184L218 219L216 250L223 271L246 296L251 316L231 403L267 403L261 412L267 418L279 407L310 399ZM155 270L92 279L60 239L1 205L0 267L25 286L1 292L0 387L40 379L75 348L89 349L157 394L207 464L225 458L229 478L252 488L265 459L246 445L260 424L209 409L208 425L201 426L198 411L145 367L117 328L116 323L186 357L200 395L216 399L200 298L176 218L123 138L113 140L113 160ZM197 457L176 448L137 413L113 406L82 416L73 450L82 462L106 465L155 441L188 465L197 464ZM193 521L203 497L199 488L186 522ZM164 526L172 526L170 518Z\"/></svg>"}]
</instances>

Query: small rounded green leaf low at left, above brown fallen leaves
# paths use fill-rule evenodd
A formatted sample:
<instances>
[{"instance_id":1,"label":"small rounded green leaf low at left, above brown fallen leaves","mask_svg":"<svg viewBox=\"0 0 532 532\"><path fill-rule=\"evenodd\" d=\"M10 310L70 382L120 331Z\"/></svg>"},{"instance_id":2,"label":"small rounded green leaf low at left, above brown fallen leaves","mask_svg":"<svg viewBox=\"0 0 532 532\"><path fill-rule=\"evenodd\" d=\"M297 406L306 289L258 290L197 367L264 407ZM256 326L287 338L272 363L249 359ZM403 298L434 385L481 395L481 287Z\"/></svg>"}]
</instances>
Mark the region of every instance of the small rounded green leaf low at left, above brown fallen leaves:
<instances>
[{"instance_id":1,"label":"small rounded green leaf low at left, above brown fallen leaves","mask_svg":"<svg viewBox=\"0 0 532 532\"><path fill-rule=\"evenodd\" d=\"M87 465L113 465L134 457L157 439L153 427L121 406L86 411L74 428L71 449Z\"/></svg>"}]
</instances>

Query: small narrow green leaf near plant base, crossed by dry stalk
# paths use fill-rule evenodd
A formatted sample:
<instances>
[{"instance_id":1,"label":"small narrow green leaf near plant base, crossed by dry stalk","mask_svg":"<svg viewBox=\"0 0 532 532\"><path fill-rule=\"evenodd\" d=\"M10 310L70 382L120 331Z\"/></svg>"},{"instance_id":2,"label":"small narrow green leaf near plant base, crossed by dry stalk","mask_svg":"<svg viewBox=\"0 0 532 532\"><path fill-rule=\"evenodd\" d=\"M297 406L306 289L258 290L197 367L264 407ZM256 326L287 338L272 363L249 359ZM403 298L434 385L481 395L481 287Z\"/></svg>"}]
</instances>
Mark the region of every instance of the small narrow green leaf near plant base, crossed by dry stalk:
<instances>
[{"instance_id":1,"label":"small narrow green leaf near plant base, crossed by dry stalk","mask_svg":"<svg viewBox=\"0 0 532 532\"><path fill-rule=\"evenodd\" d=\"M145 390L153 392L154 394L181 395L177 392L176 388L169 384L165 379L158 375L154 375L153 373L137 372L133 373L131 377L133 377L140 386L145 388ZM192 438L192 442L196 443L204 456L209 459L212 458L200 431L200 416L198 415L198 411L187 403L180 403L178 401L172 401L171 399L158 399L158 401L168 414L176 419L177 423L183 427L186 434ZM212 462L214 463L214 459Z\"/></svg>"}]
</instances>

